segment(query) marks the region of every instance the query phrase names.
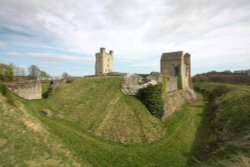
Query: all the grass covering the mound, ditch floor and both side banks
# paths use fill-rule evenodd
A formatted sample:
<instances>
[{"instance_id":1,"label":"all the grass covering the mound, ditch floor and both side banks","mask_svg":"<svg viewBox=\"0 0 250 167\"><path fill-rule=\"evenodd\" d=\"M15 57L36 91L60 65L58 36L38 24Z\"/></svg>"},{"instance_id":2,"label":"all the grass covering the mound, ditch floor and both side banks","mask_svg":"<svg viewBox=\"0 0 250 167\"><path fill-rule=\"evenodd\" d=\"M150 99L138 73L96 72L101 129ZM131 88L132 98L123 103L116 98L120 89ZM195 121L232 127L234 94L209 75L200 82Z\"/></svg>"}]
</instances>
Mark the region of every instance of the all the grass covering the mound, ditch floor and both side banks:
<instances>
[{"instance_id":1,"label":"all the grass covering the mound, ditch floor and both side banks","mask_svg":"<svg viewBox=\"0 0 250 167\"><path fill-rule=\"evenodd\" d=\"M203 83L207 105L199 96L161 122L121 82L81 78L32 101L10 92L15 105L0 94L0 166L249 166L248 86Z\"/></svg>"}]
</instances>

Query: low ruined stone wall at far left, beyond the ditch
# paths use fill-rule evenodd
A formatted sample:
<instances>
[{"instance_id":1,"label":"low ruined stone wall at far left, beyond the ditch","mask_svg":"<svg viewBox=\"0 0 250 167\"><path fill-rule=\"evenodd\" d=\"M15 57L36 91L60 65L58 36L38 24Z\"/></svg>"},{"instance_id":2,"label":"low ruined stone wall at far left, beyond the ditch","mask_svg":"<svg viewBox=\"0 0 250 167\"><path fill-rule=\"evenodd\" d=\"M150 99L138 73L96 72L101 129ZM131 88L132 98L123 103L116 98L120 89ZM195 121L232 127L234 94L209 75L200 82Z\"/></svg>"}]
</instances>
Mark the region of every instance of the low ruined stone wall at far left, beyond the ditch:
<instances>
[{"instance_id":1,"label":"low ruined stone wall at far left, beyond the ditch","mask_svg":"<svg viewBox=\"0 0 250 167\"><path fill-rule=\"evenodd\" d=\"M25 99L32 100L42 98L42 87L39 80L13 82L8 86L14 93Z\"/></svg>"}]
</instances>

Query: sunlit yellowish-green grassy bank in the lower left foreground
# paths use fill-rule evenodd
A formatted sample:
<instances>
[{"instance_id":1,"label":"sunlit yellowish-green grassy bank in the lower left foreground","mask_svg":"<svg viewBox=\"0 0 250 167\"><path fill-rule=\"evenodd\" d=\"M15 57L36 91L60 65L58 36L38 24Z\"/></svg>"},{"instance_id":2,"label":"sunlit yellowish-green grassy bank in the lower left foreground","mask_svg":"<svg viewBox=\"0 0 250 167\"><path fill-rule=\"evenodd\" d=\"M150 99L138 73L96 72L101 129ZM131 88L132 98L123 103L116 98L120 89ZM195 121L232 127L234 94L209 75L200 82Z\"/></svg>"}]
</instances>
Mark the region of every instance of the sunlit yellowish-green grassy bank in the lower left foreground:
<instances>
[{"instance_id":1,"label":"sunlit yellowish-green grassy bank in the lower left foreground","mask_svg":"<svg viewBox=\"0 0 250 167\"><path fill-rule=\"evenodd\" d=\"M0 93L0 166L87 165L14 96L13 102Z\"/></svg>"}]
</instances>

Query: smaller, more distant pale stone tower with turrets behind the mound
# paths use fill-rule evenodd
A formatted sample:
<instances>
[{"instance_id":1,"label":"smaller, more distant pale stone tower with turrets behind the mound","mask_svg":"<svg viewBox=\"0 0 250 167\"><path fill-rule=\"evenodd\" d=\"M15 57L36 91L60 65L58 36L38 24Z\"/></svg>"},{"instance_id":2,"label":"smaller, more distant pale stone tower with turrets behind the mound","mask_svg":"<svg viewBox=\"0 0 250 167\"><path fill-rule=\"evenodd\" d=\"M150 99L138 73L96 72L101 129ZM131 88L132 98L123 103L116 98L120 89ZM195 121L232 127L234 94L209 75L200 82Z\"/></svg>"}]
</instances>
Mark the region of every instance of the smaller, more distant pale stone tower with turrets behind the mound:
<instances>
[{"instance_id":1,"label":"smaller, more distant pale stone tower with turrets behind the mound","mask_svg":"<svg viewBox=\"0 0 250 167\"><path fill-rule=\"evenodd\" d=\"M105 48L100 49L100 53L96 53L95 74L103 75L112 72L113 67L113 51L106 53Z\"/></svg>"}]
</instances>

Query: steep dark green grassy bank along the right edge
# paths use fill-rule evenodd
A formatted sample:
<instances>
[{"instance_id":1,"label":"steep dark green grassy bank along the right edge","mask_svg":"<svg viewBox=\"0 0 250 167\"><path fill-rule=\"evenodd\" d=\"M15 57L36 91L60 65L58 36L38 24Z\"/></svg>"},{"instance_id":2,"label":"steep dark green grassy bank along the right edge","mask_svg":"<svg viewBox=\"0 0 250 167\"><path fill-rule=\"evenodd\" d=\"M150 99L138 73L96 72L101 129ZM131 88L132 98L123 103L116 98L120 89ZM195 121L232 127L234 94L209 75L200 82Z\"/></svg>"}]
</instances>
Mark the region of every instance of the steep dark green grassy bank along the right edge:
<instances>
[{"instance_id":1,"label":"steep dark green grassy bank along the right edge","mask_svg":"<svg viewBox=\"0 0 250 167\"><path fill-rule=\"evenodd\" d=\"M204 117L195 156L202 166L250 165L250 91L246 87L197 84L209 111Z\"/></svg>"}]
</instances>

